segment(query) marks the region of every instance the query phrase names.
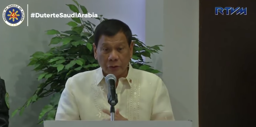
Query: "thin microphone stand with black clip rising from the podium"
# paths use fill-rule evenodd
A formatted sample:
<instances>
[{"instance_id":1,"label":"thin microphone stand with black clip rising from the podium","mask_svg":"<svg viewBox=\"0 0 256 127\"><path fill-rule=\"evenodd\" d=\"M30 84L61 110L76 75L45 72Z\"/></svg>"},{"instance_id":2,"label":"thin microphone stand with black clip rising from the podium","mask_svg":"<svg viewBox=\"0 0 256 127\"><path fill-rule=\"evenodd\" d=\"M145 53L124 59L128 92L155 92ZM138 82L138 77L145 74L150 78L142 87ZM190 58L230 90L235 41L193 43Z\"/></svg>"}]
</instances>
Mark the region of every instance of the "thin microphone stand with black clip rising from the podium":
<instances>
[{"instance_id":1,"label":"thin microphone stand with black clip rising from the podium","mask_svg":"<svg viewBox=\"0 0 256 127\"><path fill-rule=\"evenodd\" d=\"M111 121L115 120L115 106L117 103L118 103L117 94L114 98L111 97L111 94L108 94L108 104L110 104L110 120Z\"/></svg>"}]
</instances>

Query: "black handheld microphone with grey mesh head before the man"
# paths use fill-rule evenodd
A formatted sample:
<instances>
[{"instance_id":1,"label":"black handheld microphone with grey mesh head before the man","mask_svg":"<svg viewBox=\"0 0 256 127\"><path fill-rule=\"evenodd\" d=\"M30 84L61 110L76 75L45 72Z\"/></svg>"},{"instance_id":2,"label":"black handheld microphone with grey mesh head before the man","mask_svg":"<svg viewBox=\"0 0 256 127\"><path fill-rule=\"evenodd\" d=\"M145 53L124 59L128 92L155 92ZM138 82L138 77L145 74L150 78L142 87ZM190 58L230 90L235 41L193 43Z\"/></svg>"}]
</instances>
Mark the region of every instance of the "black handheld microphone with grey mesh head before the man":
<instances>
[{"instance_id":1,"label":"black handheld microphone with grey mesh head before the man","mask_svg":"<svg viewBox=\"0 0 256 127\"><path fill-rule=\"evenodd\" d=\"M108 74L105 78L108 86L108 104L115 106L118 103L118 98L116 94L116 76L113 74Z\"/></svg>"}]
</instances>

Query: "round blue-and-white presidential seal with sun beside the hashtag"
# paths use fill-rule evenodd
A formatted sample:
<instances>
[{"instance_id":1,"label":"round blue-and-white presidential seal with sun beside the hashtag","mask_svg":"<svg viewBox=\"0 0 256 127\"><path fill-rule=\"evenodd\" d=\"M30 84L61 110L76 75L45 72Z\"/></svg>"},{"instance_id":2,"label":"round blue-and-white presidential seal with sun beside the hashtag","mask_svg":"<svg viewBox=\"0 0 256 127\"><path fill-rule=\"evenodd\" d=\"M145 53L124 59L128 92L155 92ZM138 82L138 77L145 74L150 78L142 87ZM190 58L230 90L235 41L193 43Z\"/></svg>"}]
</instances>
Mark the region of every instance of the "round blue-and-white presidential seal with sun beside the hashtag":
<instances>
[{"instance_id":1,"label":"round blue-and-white presidential seal with sun beside the hashtag","mask_svg":"<svg viewBox=\"0 0 256 127\"><path fill-rule=\"evenodd\" d=\"M11 4L4 8L3 19L9 26L20 25L23 22L24 17L24 10L19 5Z\"/></svg>"}]
</instances>

